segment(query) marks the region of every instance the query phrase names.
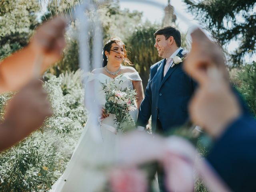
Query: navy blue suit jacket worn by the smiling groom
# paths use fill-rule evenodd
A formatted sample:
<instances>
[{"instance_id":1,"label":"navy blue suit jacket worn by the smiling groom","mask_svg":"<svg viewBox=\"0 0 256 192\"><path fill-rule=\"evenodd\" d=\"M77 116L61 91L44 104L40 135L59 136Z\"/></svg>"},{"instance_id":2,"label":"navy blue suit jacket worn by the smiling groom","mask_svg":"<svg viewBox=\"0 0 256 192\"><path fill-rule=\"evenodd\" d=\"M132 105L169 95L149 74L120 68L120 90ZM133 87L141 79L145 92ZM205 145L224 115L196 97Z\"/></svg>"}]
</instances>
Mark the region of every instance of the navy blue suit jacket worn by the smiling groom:
<instances>
[{"instance_id":1,"label":"navy blue suit jacket worn by the smiling groom","mask_svg":"<svg viewBox=\"0 0 256 192\"><path fill-rule=\"evenodd\" d=\"M177 54L180 58L184 57L182 51ZM138 126L145 127L152 115L153 132L156 131L157 118L164 131L188 120L188 101L196 86L184 72L182 62L170 68L163 77L165 64L166 59L163 59L150 67L150 78L137 120Z\"/></svg>"}]
</instances>

